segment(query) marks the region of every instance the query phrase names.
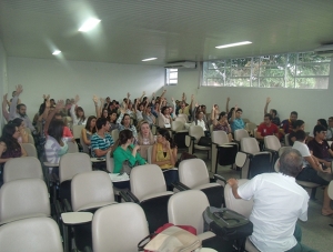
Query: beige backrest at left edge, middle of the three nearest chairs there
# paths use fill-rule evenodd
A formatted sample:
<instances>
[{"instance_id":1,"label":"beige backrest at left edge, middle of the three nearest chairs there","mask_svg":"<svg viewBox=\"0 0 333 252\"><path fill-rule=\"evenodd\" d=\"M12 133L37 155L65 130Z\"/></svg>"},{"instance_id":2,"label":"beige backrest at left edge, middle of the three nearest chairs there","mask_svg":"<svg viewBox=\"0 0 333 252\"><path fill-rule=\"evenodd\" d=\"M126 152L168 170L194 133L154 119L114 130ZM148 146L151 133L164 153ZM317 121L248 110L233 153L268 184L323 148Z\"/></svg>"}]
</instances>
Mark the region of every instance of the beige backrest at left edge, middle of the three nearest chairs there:
<instances>
[{"instance_id":1,"label":"beige backrest at left edge, middle of the three nearest chairs there","mask_svg":"<svg viewBox=\"0 0 333 252\"><path fill-rule=\"evenodd\" d=\"M0 190L0 221L11 222L31 216L50 216L47 184L40 179L14 180Z\"/></svg>"}]
</instances>

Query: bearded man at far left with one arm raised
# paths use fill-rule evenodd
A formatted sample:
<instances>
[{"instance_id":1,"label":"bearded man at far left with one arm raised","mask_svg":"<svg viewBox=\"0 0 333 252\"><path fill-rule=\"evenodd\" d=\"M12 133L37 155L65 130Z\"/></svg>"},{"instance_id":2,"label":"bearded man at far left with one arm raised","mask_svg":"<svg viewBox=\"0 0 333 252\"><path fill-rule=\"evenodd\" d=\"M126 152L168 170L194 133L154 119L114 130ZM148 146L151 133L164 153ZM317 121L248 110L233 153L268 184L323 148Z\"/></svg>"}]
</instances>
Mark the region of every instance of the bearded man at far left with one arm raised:
<instances>
[{"instance_id":1,"label":"bearded man at far left with one arm raised","mask_svg":"<svg viewBox=\"0 0 333 252\"><path fill-rule=\"evenodd\" d=\"M12 99L9 111L9 120L13 120L16 118L20 118L24 121L27 128L31 130L31 132L36 132L34 127L32 125L31 120L27 115L27 107L23 103L17 104L19 100L19 95L23 92L22 85L18 85L16 90L16 95Z\"/></svg>"}]
</instances>

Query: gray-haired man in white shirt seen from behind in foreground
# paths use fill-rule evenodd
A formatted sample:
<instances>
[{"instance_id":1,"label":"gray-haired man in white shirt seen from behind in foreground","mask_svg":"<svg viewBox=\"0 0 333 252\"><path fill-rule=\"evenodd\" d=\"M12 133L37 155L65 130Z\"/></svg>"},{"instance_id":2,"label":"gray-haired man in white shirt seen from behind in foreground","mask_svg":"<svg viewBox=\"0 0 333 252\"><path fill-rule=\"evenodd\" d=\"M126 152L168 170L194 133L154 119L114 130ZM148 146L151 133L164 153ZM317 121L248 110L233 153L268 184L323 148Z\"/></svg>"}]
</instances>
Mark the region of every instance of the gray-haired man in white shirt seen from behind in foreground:
<instances>
[{"instance_id":1,"label":"gray-haired man in white shirt seen from behind in foreground","mask_svg":"<svg viewBox=\"0 0 333 252\"><path fill-rule=\"evenodd\" d=\"M314 251L301 244L302 232L297 219L307 220L307 192L295 178L302 171L302 155L297 150L285 151L280 158L279 173L262 173L242 185L228 180L234 198L250 200L253 209L252 243L260 251Z\"/></svg>"}]
</instances>

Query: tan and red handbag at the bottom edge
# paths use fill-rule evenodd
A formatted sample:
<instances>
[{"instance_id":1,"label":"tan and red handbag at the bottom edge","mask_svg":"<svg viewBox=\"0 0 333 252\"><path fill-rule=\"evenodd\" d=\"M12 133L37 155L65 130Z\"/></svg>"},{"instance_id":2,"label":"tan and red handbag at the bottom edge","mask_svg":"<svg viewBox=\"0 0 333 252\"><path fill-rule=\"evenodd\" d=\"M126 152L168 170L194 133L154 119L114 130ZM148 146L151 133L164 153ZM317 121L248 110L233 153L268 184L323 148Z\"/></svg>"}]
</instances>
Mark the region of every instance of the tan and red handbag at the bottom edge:
<instances>
[{"instance_id":1,"label":"tan and red handbag at the bottom edge","mask_svg":"<svg viewBox=\"0 0 333 252\"><path fill-rule=\"evenodd\" d=\"M147 243L147 240L150 241ZM162 225L138 244L139 251L144 252L191 252L199 248L201 248L201 240L196 236L193 226L176 226L171 223Z\"/></svg>"}]
</instances>

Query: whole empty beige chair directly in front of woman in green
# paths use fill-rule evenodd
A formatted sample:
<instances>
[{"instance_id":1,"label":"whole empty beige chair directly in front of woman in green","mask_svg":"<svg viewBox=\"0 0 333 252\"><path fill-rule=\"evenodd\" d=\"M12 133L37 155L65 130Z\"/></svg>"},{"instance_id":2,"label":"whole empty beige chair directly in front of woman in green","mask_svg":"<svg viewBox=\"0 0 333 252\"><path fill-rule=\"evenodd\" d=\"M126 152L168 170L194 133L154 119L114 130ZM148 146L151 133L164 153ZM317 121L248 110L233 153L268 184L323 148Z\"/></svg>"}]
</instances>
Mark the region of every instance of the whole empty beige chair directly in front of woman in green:
<instances>
[{"instance_id":1,"label":"whole empty beige chair directly in front of woman in green","mask_svg":"<svg viewBox=\"0 0 333 252\"><path fill-rule=\"evenodd\" d=\"M139 203L147 216L150 232L168 222L168 201L173 192L167 191L163 172L155 164L134 167L128 195Z\"/></svg>"}]
</instances>

